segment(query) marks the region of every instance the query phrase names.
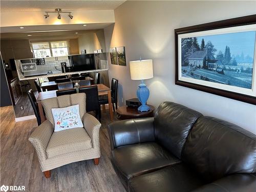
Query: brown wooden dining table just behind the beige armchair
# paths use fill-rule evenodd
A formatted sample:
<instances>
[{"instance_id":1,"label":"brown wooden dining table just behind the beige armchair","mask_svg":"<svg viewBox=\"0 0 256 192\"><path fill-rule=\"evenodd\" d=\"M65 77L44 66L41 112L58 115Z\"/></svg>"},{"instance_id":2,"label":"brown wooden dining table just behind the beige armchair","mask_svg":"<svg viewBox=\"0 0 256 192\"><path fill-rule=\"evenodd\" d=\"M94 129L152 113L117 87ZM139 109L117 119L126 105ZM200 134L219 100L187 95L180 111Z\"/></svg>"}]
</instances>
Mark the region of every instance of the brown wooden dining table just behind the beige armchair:
<instances>
[{"instance_id":1,"label":"brown wooden dining table just behind the beige armchair","mask_svg":"<svg viewBox=\"0 0 256 192\"><path fill-rule=\"evenodd\" d=\"M96 84L98 87L98 95L108 95L108 101L109 101L109 112L110 112L110 120L114 120L114 115L113 115L113 109L112 109L112 101L111 101L111 89L104 84ZM90 87L90 86L84 86L84 87ZM83 87L80 87L83 88ZM44 122L46 120L46 117L44 115L44 109L42 108L41 101L44 99L49 99L56 96L56 91L57 90L52 90L52 91L45 91L45 92L40 92L36 98L36 102L38 104L38 109L39 109L39 115L41 118L41 122Z\"/></svg>"}]
</instances>

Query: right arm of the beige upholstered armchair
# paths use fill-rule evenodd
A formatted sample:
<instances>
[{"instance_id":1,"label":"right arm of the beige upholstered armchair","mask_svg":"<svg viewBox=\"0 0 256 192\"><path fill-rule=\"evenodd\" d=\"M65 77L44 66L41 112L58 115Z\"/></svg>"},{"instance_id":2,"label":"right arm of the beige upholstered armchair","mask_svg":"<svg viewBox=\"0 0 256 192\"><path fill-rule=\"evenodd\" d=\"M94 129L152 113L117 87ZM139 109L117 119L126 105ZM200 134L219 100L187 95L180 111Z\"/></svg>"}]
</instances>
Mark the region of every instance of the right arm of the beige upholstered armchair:
<instances>
[{"instance_id":1,"label":"right arm of the beige upholstered armchair","mask_svg":"<svg viewBox=\"0 0 256 192\"><path fill-rule=\"evenodd\" d=\"M85 113L82 117L82 123L84 129L92 139L93 148L99 147L99 129L100 122L91 114Z\"/></svg>"}]
</instances>

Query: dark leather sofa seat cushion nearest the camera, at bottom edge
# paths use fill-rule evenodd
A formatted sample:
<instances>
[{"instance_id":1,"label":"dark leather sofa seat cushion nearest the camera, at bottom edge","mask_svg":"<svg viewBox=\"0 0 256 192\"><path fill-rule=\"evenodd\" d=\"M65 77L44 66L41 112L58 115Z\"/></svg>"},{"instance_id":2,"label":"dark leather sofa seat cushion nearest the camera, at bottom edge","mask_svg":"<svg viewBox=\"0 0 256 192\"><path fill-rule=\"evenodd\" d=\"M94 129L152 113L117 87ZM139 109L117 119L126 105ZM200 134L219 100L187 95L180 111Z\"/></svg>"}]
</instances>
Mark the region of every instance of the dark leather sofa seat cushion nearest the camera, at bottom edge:
<instances>
[{"instance_id":1,"label":"dark leather sofa seat cushion nearest the camera, at bottom edge","mask_svg":"<svg viewBox=\"0 0 256 192\"><path fill-rule=\"evenodd\" d=\"M204 184L202 178L183 163L133 177L128 183L129 191L147 192L190 191Z\"/></svg>"}]
</instances>

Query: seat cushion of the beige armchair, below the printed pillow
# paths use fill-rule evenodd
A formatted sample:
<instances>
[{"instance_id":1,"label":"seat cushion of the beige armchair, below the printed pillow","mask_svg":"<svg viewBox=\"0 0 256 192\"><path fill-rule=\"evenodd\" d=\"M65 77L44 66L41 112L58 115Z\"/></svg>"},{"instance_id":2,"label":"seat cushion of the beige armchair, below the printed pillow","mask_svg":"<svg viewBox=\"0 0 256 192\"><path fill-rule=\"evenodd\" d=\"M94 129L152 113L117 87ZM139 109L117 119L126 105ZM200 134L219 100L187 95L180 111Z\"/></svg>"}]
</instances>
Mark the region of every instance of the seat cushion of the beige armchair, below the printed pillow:
<instances>
[{"instance_id":1,"label":"seat cushion of the beige armchair, below the printed pillow","mask_svg":"<svg viewBox=\"0 0 256 192\"><path fill-rule=\"evenodd\" d=\"M91 138L83 127L79 127L54 132L46 147L46 155L48 158L51 158L57 155L87 150L91 147Z\"/></svg>"}]
</instances>

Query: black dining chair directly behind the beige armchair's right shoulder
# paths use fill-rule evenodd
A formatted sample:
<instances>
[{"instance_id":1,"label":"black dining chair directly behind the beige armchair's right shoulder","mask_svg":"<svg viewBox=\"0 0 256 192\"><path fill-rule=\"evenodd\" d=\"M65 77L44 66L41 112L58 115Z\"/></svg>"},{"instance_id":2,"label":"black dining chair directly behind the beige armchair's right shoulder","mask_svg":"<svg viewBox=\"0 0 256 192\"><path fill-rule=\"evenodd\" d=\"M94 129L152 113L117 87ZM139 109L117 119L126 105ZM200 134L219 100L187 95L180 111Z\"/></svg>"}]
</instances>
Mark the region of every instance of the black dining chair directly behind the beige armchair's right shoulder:
<instances>
[{"instance_id":1,"label":"black dining chair directly behind the beige armchair's right shoulder","mask_svg":"<svg viewBox=\"0 0 256 192\"><path fill-rule=\"evenodd\" d=\"M97 86L90 86L79 88L79 93L86 94L86 111L95 111L96 117L101 119L101 112L100 112L100 104L99 104L99 95L98 95L98 87Z\"/></svg>"}]
</instances>

